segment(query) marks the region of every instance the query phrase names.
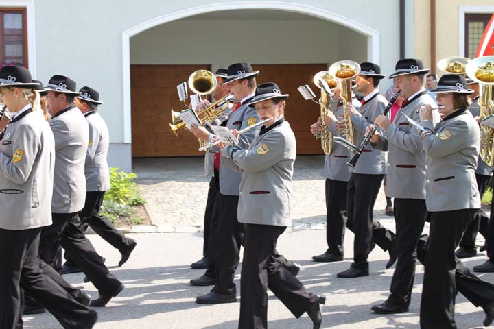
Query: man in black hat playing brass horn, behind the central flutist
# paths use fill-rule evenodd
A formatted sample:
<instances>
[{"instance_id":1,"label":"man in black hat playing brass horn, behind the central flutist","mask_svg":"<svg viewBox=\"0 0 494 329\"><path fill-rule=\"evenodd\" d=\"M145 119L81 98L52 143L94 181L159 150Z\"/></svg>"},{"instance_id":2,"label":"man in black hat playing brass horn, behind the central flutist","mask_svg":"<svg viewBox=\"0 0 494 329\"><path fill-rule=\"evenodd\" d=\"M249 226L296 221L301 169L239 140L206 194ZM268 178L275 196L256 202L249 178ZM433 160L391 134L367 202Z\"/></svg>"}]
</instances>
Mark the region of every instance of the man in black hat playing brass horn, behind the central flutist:
<instances>
[{"instance_id":1,"label":"man in black hat playing brass horn, behind the central flutist","mask_svg":"<svg viewBox=\"0 0 494 329\"><path fill-rule=\"evenodd\" d=\"M226 127L229 129L242 129L257 123L259 117L255 108L247 105L254 97L256 82L255 77L259 71L253 71L248 63L236 63L228 66L228 77L223 84L228 84L228 90L233 93L239 103L232 109ZM253 129L242 134L242 143L249 144L256 132ZM211 141L215 136L206 128L194 126L193 134L204 140ZM206 295L197 297L198 304L218 304L235 302L237 289L233 283L235 269L239 264L239 249L244 236L244 226L237 221L237 206L239 198L239 185L242 174L223 165L224 158L219 154L215 156L215 162L219 168L220 194L217 197L215 211L211 218L209 240L213 243L213 267L216 272L215 286Z\"/></svg>"}]
</instances>

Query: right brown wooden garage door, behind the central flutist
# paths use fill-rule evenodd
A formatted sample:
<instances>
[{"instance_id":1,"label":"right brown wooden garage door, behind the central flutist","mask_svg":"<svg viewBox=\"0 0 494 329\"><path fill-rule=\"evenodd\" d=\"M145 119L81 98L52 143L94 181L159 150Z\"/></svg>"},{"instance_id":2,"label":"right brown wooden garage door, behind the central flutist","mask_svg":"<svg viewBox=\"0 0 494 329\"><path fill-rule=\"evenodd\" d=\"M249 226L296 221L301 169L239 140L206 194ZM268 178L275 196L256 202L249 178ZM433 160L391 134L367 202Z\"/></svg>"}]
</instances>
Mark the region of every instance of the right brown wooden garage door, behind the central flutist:
<instances>
[{"instance_id":1,"label":"right brown wooden garage door, behind the central flutist","mask_svg":"<svg viewBox=\"0 0 494 329\"><path fill-rule=\"evenodd\" d=\"M319 71L327 69L326 64L252 64L253 69L261 70L257 84L275 82L283 93L290 94L287 99L285 118L290 122L297 143L297 154L322 154L320 141L309 131L312 123L319 117L319 106L312 101L305 101L298 93L298 86L309 84L316 96L320 91L312 83L312 77Z\"/></svg>"}]
</instances>

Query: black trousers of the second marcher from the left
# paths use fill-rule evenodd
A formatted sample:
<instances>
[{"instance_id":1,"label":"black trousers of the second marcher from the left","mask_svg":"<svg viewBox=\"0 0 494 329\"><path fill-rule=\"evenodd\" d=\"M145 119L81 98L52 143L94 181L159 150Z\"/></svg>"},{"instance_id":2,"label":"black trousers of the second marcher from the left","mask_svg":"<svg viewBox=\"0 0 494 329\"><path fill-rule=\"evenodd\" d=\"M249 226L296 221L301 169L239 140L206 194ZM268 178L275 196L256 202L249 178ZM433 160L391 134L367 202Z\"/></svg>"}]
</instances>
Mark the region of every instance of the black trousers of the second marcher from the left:
<instances>
[{"instance_id":1,"label":"black trousers of the second marcher from the left","mask_svg":"<svg viewBox=\"0 0 494 329\"><path fill-rule=\"evenodd\" d=\"M108 271L102 257L97 254L91 241L84 235L78 213L53 213L52 219L53 224L43 228L41 232L40 258L53 267L56 250L61 245L93 282L100 295L115 293L121 282Z\"/></svg>"}]
</instances>

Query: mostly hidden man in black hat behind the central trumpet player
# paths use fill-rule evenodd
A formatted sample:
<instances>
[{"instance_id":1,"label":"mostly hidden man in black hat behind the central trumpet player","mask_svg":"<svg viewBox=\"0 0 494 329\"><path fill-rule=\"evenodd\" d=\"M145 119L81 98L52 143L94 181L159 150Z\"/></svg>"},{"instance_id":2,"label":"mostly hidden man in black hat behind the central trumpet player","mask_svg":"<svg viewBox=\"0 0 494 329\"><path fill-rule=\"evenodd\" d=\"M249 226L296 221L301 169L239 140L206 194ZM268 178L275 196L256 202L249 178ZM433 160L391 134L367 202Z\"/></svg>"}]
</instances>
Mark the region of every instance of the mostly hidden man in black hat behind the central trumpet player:
<instances>
[{"instance_id":1,"label":"mostly hidden man in black hat behind the central trumpet player","mask_svg":"<svg viewBox=\"0 0 494 329\"><path fill-rule=\"evenodd\" d=\"M226 95L228 95L228 85L222 84L224 80L228 77L228 71L226 69L217 69L215 72L215 77L217 80L216 88L213 90L213 99L222 99ZM200 110L204 110L211 103L207 101L207 99L201 100L196 112ZM211 122L210 125L220 125L224 120L228 118L228 114L230 114L231 108L228 108L220 114L218 119L215 122ZM205 127L207 128L207 123ZM215 167L214 164L215 153L207 151L204 155L204 171L207 176L211 176L211 180L209 181L209 189L207 195L206 208L204 209L204 243L202 244L202 258L197 262L191 264L191 268L193 269L208 269L209 265L213 265L213 262L209 262L209 259L212 259L212 256L208 257L208 245L209 245L209 223L211 223L211 217L213 217L213 209L217 199L218 193L220 193L219 188L219 177L220 174ZM191 280L191 284L197 286L215 284L216 277L214 273L214 269L210 268L209 271L206 271L203 276L198 279Z\"/></svg>"}]
</instances>

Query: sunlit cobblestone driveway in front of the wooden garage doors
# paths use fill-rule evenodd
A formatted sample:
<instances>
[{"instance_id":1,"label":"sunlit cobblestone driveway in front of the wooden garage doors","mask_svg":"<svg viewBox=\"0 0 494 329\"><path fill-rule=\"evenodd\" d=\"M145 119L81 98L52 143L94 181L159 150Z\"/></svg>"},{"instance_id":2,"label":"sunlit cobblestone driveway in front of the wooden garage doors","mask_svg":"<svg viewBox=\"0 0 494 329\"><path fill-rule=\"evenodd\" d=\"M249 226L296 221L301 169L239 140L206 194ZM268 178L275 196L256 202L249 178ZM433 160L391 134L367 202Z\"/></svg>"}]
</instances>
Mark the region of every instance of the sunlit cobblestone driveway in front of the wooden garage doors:
<instances>
[{"instance_id":1,"label":"sunlit cobblestone driveway in front of the wooden garage doors","mask_svg":"<svg viewBox=\"0 0 494 329\"><path fill-rule=\"evenodd\" d=\"M292 219L294 230L325 229L324 156L298 156L294 169ZM204 158L134 159L132 169L158 232L198 232L202 230L209 178L204 175ZM383 188L375 203L374 217L384 226L394 227L384 215Z\"/></svg>"}]
</instances>

